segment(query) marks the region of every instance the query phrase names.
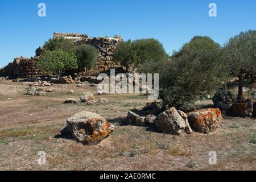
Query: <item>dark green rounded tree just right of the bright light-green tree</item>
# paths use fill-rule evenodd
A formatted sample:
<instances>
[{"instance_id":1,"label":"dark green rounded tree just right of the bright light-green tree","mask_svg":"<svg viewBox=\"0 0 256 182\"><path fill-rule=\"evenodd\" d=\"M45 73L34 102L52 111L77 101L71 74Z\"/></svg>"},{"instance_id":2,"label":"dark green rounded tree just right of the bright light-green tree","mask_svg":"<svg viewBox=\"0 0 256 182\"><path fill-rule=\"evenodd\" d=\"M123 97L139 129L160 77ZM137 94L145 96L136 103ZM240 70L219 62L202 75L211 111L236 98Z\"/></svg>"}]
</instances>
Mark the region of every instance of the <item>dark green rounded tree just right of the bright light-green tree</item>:
<instances>
[{"instance_id":1,"label":"dark green rounded tree just right of the bright light-green tree","mask_svg":"<svg viewBox=\"0 0 256 182\"><path fill-rule=\"evenodd\" d=\"M97 49L93 46L83 44L77 47L76 56L79 70L82 71L84 68L94 68L97 61Z\"/></svg>"}]
</instances>

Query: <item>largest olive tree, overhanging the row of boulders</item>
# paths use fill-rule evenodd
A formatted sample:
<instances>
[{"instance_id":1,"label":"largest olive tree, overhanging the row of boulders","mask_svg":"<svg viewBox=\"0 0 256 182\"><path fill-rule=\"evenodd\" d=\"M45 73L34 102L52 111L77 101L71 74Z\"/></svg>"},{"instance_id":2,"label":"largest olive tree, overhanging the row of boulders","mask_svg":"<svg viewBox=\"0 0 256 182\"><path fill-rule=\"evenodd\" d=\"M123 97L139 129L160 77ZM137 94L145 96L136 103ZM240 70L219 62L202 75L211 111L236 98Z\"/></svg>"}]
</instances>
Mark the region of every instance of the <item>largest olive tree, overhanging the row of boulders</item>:
<instances>
[{"instance_id":1,"label":"largest olive tree, overhanging the row of boulders","mask_svg":"<svg viewBox=\"0 0 256 182\"><path fill-rule=\"evenodd\" d=\"M189 46L189 43L185 45ZM229 77L229 68L222 61L221 47L197 47L177 53L180 56L171 59L146 61L139 70L159 73L159 97L164 107L193 104L207 97Z\"/></svg>"}]
</instances>

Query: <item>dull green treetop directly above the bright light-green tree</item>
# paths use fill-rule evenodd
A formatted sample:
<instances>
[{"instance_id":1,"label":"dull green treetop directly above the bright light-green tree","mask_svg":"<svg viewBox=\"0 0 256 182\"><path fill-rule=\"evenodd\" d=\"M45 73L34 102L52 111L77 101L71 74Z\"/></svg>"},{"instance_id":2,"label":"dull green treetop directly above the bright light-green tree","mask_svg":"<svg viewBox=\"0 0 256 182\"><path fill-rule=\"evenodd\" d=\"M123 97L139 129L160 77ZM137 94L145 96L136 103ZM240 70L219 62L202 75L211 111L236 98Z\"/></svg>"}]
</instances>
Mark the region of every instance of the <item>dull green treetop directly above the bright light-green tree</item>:
<instances>
[{"instance_id":1,"label":"dull green treetop directly above the bright light-green tree","mask_svg":"<svg viewBox=\"0 0 256 182\"><path fill-rule=\"evenodd\" d=\"M49 39L48 42L44 43L44 50L55 51L63 50L69 53L75 52L75 44L70 39L63 37Z\"/></svg>"}]
</instances>

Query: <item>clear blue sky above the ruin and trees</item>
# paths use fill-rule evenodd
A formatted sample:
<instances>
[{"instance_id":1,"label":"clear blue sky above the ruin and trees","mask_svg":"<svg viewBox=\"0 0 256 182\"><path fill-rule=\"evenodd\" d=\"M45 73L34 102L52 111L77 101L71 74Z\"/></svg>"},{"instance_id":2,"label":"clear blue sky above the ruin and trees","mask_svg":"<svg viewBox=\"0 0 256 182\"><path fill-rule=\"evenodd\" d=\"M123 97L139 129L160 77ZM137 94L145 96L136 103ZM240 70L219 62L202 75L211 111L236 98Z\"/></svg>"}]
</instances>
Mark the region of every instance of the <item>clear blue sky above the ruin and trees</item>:
<instances>
[{"instance_id":1,"label":"clear blue sky above the ruin and trees","mask_svg":"<svg viewBox=\"0 0 256 182\"><path fill-rule=\"evenodd\" d=\"M38 4L46 3L46 17ZM208 5L217 4L217 17ZM53 32L127 39L156 38L168 53L193 36L221 45L241 31L256 29L255 0L1 0L0 67L14 57L35 55Z\"/></svg>"}]
</instances>

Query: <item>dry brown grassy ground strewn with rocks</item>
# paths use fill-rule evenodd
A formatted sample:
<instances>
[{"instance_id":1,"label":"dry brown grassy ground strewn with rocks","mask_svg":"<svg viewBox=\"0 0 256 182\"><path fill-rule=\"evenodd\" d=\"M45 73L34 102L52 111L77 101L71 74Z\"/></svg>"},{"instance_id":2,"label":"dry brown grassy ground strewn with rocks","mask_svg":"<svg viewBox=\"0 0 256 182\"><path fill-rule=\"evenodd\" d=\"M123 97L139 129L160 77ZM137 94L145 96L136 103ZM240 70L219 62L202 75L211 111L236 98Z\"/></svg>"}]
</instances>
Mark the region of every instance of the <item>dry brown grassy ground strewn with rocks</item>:
<instances>
[{"instance_id":1,"label":"dry brown grassy ground strewn with rocks","mask_svg":"<svg viewBox=\"0 0 256 182\"><path fill-rule=\"evenodd\" d=\"M26 96L24 87L0 82L0 170L256 170L254 118L224 115L225 125L215 133L165 135L152 127L124 125L127 111L148 102L145 96L105 95L108 104L88 106L63 102L85 91L97 94L89 83L45 87L54 90L46 96ZM66 119L81 110L114 123L114 133L97 146L61 137ZM46 165L38 164L39 151L46 152ZM217 152L216 165L209 164L210 151Z\"/></svg>"}]
</instances>

